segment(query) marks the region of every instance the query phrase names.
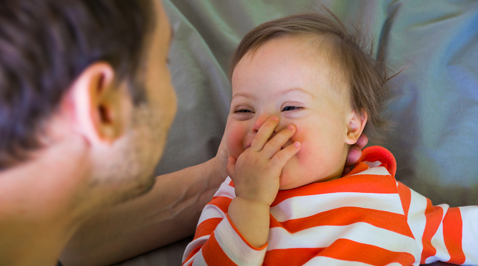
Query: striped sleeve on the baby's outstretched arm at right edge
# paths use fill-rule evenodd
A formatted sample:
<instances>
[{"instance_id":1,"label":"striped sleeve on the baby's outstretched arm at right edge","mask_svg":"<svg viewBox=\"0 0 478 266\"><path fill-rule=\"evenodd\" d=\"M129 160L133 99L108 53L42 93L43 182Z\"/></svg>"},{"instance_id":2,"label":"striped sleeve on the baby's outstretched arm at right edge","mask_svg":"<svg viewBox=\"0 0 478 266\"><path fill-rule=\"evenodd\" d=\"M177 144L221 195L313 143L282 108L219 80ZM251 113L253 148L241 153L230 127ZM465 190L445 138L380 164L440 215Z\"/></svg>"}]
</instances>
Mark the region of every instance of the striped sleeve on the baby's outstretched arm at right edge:
<instances>
[{"instance_id":1,"label":"striped sleeve on the baby's outstretched arm at right edge","mask_svg":"<svg viewBox=\"0 0 478 266\"><path fill-rule=\"evenodd\" d=\"M398 182L408 223L422 249L420 263L478 265L478 206L434 206Z\"/></svg>"}]
</instances>

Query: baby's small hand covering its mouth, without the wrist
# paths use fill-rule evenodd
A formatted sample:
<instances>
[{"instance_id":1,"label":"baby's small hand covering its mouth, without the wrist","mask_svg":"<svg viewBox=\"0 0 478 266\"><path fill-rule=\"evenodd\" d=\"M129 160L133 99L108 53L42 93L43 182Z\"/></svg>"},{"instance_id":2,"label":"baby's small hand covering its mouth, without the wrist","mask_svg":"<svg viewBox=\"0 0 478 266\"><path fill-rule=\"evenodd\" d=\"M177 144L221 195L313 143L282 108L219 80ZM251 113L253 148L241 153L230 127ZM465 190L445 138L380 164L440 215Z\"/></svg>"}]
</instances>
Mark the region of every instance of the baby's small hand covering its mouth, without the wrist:
<instances>
[{"instance_id":1,"label":"baby's small hand covering its mouth, without the wrist","mask_svg":"<svg viewBox=\"0 0 478 266\"><path fill-rule=\"evenodd\" d=\"M236 197L270 206L279 191L279 176L287 161L299 150L298 142L281 150L294 136L295 127L289 125L271 140L279 119L269 118L257 132L251 147L235 160L227 160L227 174L234 182Z\"/></svg>"}]
</instances>

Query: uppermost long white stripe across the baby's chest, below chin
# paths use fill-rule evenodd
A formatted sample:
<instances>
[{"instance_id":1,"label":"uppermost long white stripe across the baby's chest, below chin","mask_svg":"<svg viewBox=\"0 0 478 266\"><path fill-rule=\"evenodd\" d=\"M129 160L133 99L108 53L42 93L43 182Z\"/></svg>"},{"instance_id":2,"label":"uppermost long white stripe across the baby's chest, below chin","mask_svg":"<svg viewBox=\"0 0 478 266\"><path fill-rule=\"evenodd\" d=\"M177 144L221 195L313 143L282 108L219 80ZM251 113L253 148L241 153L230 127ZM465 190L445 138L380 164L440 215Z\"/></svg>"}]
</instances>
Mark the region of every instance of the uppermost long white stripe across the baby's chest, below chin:
<instances>
[{"instance_id":1,"label":"uppermost long white stripe across the baby's chest, below chin","mask_svg":"<svg viewBox=\"0 0 478 266\"><path fill-rule=\"evenodd\" d=\"M292 197L271 208L279 222L309 217L340 207L360 207L404 214L398 194L339 192Z\"/></svg>"}]
</instances>

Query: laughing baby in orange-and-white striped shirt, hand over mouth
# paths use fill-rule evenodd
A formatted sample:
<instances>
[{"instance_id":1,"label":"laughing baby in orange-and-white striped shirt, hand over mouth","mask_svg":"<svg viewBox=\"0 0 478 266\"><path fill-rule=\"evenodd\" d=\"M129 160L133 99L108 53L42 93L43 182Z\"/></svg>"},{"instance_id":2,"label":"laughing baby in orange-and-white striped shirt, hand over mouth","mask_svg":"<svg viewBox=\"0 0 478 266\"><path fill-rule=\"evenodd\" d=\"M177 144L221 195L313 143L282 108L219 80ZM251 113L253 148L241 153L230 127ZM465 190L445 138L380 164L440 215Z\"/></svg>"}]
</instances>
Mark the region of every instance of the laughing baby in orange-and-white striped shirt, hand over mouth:
<instances>
[{"instance_id":1,"label":"laughing baby in orange-and-white striped shirt, hand over mouth","mask_svg":"<svg viewBox=\"0 0 478 266\"><path fill-rule=\"evenodd\" d=\"M338 19L299 14L255 28L232 64L227 173L183 265L478 264L478 207L433 206L370 147L386 123L384 67ZM464 233L465 232L465 233Z\"/></svg>"}]
</instances>

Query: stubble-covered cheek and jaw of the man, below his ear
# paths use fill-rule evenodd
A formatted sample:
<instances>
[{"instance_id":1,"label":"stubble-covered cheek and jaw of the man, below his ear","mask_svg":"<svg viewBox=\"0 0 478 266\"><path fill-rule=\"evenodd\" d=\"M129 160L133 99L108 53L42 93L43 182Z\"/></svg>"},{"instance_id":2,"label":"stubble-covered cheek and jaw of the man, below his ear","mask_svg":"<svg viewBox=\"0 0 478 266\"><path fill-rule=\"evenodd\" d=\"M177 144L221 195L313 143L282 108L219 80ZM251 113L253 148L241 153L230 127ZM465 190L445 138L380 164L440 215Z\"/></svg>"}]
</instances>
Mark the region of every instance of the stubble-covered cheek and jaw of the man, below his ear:
<instances>
[{"instance_id":1,"label":"stubble-covered cheek and jaw of the man, below his ear","mask_svg":"<svg viewBox=\"0 0 478 266\"><path fill-rule=\"evenodd\" d=\"M111 160L105 160L99 167L99 177L91 183L91 186L111 187L111 203L131 200L153 188L154 169L164 150L169 128L164 118L147 103L133 109L125 136L118 140Z\"/></svg>"}]
</instances>

